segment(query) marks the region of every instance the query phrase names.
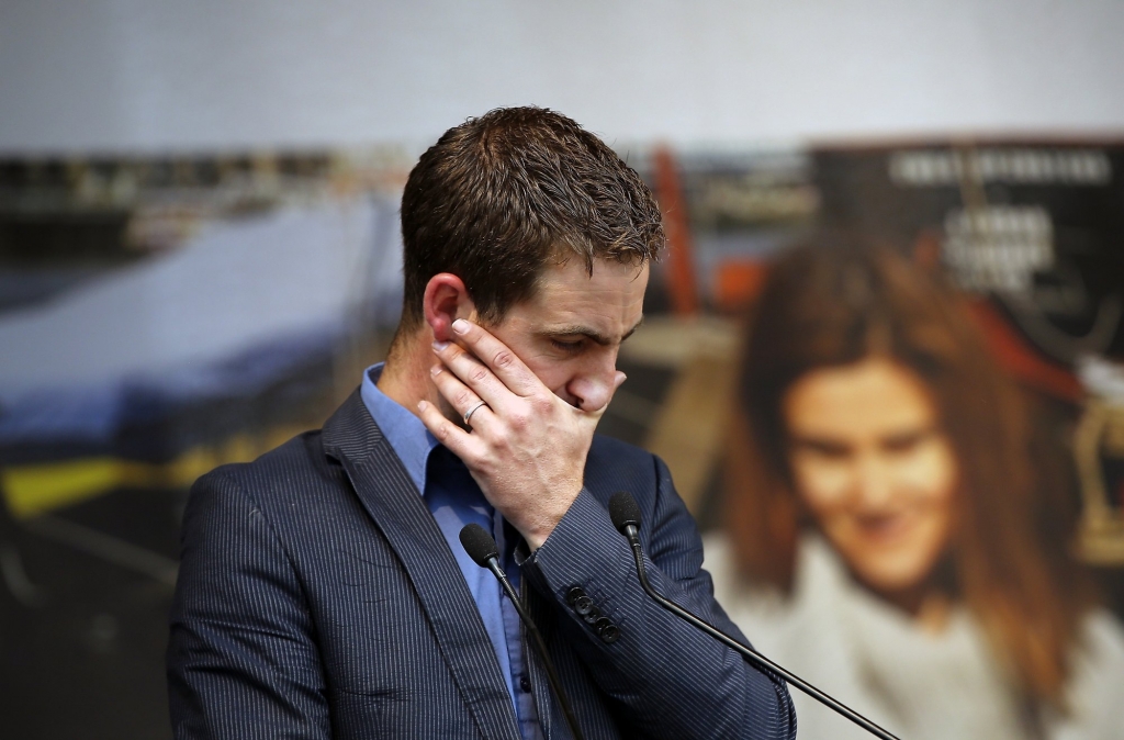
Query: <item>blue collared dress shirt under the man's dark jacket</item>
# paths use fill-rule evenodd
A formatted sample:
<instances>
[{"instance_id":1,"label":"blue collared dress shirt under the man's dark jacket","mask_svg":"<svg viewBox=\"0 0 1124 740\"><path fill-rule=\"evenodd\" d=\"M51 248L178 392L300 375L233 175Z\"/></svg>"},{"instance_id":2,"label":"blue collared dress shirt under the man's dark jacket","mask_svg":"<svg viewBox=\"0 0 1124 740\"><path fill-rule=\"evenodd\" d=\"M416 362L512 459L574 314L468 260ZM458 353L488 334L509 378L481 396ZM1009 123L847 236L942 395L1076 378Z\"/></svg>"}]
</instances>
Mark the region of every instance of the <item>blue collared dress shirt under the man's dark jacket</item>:
<instances>
[{"instance_id":1,"label":"blue collared dress shirt under the man's dark jacket","mask_svg":"<svg viewBox=\"0 0 1124 740\"><path fill-rule=\"evenodd\" d=\"M513 556L514 530L505 526L504 517L484 498L464 463L437 442L422 419L379 390L375 383L382 374L382 366L380 362L364 371L360 387L363 404L422 493L461 567L507 682L519 718L520 734L524 740L541 740L538 712L523 660L519 614L491 572L469 557L460 540L465 524L477 523L491 532L499 547L504 571L518 589L519 567Z\"/></svg>"}]
</instances>

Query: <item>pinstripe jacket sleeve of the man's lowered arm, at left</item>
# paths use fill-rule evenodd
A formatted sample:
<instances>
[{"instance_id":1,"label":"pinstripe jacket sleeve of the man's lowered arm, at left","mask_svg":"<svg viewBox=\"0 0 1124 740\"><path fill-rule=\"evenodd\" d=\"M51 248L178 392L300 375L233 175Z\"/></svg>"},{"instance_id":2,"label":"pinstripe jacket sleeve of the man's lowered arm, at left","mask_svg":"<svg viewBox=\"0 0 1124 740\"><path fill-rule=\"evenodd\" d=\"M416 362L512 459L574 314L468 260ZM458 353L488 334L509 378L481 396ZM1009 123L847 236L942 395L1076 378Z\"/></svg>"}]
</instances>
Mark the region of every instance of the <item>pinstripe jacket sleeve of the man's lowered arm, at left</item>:
<instances>
[{"instance_id":1,"label":"pinstripe jacket sleeve of the man's lowered arm, at left","mask_svg":"<svg viewBox=\"0 0 1124 740\"><path fill-rule=\"evenodd\" d=\"M261 509L223 470L184 513L167 649L178 740L328 738L307 602Z\"/></svg>"}]
</instances>

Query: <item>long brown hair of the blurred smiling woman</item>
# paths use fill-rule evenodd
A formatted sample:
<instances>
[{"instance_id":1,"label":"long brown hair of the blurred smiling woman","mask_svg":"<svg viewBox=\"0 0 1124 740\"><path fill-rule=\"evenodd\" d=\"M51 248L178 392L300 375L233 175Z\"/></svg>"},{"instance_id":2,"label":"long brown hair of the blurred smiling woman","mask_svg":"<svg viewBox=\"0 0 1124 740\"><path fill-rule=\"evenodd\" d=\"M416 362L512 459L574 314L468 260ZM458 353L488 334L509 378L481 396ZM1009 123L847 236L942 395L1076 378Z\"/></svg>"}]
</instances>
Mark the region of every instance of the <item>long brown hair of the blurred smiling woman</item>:
<instances>
[{"instance_id":1,"label":"long brown hair of the blurred smiling woman","mask_svg":"<svg viewBox=\"0 0 1124 740\"><path fill-rule=\"evenodd\" d=\"M812 525L788 470L787 390L819 368L890 359L928 386L959 460L952 595L982 625L1015 691L1064 711L1091 604L1068 550L1068 470L1042 452L1055 442L1031 423L958 295L892 250L821 236L770 267L747 328L725 496L743 575L788 593L799 531Z\"/></svg>"}]
</instances>

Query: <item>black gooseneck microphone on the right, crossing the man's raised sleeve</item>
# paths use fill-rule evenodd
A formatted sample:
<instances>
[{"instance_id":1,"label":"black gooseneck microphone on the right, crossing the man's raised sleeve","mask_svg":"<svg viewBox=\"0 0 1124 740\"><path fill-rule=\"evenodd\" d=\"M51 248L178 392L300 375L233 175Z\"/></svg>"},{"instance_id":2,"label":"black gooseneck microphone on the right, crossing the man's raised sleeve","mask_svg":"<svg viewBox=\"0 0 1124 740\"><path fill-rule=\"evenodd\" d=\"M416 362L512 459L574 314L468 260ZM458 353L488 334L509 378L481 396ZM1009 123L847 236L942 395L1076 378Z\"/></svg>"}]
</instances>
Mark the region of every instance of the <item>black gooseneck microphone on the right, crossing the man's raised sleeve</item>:
<instances>
[{"instance_id":1,"label":"black gooseneck microphone on the right, crossing the man's raised sleeve","mask_svg":"<svg viewBox=\"0 0 1124 740\"><path fill-rule=\"evenodd\" d=\"M628 544L632 545L633 559L636 561L636 575L640 578L640 585L644 589L644 593L652 597L656 604L668 610L676 616L689 622L691 625L699 630L703 630L711 638L718 640L727 648L736 650L744 658L746 658L751 664L761 668L762 670L771 670L785 680L787 680L792 686L796 686L801 692L816 700L821 704L831 707L835 712L842 714L846 719L851 720L863 730L867 730L871 734L882 738L882 740L900 740L895 734L889 733L879 725L874 724L863 715L859 714L852 710L846 704L843 704L839 700L825 694L819 691L808 682L803 678L789 673L785 668L781 668L772 660L769 660L760 652L753 648L742 644L734 638L729 637L718 628L700 620L687 610L685 610L679 604L668 601L652 588L652 584L647 580L647 568L644 566L644 550L640 543L640 523L641 514L640 506L636 505L636 499L632 497L628 491L619 491L613 494L613 498L609 499L609 517L613 520L613 526L617 529L625 538L628 540ZM495 545L493 545L495 547Z\"/></svg>"}]
</instances>

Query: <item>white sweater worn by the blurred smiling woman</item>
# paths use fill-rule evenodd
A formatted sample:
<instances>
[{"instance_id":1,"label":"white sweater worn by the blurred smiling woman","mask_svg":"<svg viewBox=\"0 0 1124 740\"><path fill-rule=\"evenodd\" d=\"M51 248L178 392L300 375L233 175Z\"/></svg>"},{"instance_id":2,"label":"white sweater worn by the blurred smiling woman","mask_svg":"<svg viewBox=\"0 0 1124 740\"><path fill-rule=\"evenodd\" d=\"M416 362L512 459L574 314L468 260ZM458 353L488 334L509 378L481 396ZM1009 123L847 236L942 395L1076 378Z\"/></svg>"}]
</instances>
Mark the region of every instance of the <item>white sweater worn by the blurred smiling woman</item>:
<instances>
[{"instance_id":1,"label":"white sweater worn by the blurred smiling woman","mask_svg":"<svg viewBox=\"0 0 1124 740\"><path fill-rule=\"evenodd\" d=\"M939 634L855 584L823 540L800 542L791 597L746 586L729 543L704 539L715 596L763 655L904 740L1033 738L982 631L955 608ZM1124 630L1106 611L1085 624L1069 687L1075 711L1049 740L1124 739ZM872 736L791 689L801 740ZM1041 736L1040 736L1041 737Z\"/></svg>"}]
</instances>

